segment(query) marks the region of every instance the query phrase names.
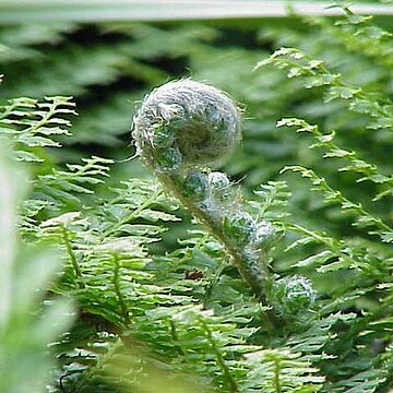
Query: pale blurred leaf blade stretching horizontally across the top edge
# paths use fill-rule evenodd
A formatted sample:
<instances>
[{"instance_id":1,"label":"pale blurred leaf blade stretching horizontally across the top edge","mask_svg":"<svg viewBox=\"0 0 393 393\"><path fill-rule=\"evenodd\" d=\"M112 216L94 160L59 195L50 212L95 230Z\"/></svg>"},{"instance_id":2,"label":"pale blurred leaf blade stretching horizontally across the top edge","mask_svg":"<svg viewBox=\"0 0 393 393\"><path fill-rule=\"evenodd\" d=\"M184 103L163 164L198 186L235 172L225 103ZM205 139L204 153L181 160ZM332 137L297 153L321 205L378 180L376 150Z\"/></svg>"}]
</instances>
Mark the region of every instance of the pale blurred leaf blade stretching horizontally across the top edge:
<instances>
[{"instance_id":1,"label":"pale blurred leaf blade stretching horizontally across the top edge","mask_svg":"<svg viewBox=\"0 0 393 393\"><path fill-rule=\"evenodd\" d=\"M293 10L306 15L343 15L329 2L296 1ZM389 4L358 4L357 14L392 15ZM214 19L287 17L288 2L279 0L5 0L0 3L0 24L25 21L176 21Z\"/></svg>"}]
</instances>

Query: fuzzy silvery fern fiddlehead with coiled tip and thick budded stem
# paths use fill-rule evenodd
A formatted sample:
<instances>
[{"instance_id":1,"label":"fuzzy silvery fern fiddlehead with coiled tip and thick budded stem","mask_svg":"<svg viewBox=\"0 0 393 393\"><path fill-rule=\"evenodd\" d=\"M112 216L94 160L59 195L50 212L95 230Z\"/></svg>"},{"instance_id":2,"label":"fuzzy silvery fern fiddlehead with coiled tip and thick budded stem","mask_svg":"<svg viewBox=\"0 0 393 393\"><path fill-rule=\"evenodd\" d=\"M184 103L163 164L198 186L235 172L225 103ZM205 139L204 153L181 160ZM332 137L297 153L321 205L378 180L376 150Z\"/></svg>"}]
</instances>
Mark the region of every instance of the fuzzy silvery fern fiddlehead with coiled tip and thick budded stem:
<instances>
[{"instance_id":1,"label":"fuzzy silvery fern fiddlehead with coiled tip and thick budded stem","mask_svg":"<svg viewBox=\"0 0 393 393\"><path fill-rule=\"evenodd\" d=\"M144 98L132 136L142 160L225 245L242 277L265 302L274 291L267 253L276 230L243 209L224 172L211 170L240 141L240 117L236 104L219 90L180 80Z\"/></svg>"}]
</instances>

